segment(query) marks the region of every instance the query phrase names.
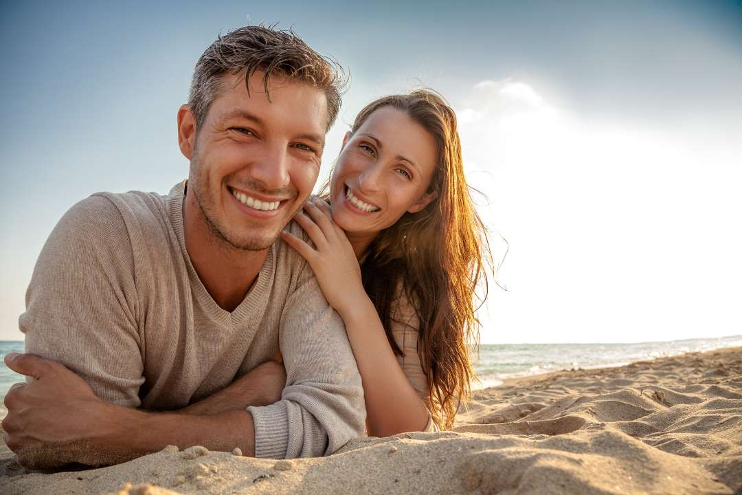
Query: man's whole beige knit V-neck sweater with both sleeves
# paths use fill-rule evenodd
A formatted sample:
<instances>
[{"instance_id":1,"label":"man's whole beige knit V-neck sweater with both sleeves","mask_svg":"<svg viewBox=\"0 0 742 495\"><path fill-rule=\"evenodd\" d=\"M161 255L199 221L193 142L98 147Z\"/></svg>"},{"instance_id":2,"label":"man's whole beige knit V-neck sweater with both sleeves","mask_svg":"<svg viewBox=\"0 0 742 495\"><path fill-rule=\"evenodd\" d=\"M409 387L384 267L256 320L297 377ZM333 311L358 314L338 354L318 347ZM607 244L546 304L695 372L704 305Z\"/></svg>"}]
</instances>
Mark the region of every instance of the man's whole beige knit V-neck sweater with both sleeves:
<instances>
[{"instance_id":1,"label":"man's whole beige knit V-neck sweater with both sleeves","mask_svg":"<svg viewBox=\"0 0 742 495\"><path fill-rule=\"evenodd\" d=\"M277 240L240 306L221 309L185 250L182 184L73 206L39 256L26 307L26 351L62 362L106 401L179 409L280 350L282 400L249 407L255 455L319 456L364 434L361 377L312 269Z\"/></svg>"}]
</instances>

